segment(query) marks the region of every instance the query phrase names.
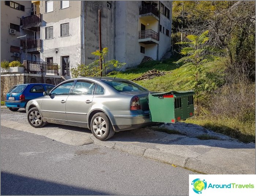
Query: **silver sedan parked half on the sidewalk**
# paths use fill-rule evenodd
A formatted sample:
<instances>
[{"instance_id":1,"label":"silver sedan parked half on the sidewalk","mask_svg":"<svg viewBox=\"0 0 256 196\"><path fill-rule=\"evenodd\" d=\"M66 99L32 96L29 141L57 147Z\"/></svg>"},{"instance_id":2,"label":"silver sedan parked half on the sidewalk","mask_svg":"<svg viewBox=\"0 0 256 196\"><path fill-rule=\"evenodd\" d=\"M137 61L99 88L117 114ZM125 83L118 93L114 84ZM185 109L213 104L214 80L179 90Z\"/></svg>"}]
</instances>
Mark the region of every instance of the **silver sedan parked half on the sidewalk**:
<instances>
[{"instance_id":1,"label":"silver sedan parked half on the sidewalk","mask_svg":"<svg viewBox=\"0 0 256 196\"><path fill-rule=\"evenodd\" d=\"M89 128L106 140L115 132L149 125L148 89L120 78L81 77L66 80L26 105L27 120Z\"/></svg>"}]
</instances>

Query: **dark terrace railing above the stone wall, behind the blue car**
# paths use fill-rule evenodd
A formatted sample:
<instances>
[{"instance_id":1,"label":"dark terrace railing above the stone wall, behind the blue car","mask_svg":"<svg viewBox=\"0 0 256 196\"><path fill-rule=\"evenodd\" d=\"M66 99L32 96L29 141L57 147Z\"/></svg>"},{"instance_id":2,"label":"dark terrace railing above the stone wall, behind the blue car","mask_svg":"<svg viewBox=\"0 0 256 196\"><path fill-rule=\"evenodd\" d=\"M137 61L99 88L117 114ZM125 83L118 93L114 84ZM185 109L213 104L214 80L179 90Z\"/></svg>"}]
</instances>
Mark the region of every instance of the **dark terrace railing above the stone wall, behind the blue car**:
<instances>
[{"instance_id":1,"label":"dark terrace railing above the stone wall, behind the blue car","mask_svg":"<svg viewBox=\"0 0 256 196\"><path fill-rule=\"evenodd\" d=\"M58 65L56 63L38 62L38 61L23 61L24 70L27 73L46 73L59 75Z\"/></svg>"}]
</instances>

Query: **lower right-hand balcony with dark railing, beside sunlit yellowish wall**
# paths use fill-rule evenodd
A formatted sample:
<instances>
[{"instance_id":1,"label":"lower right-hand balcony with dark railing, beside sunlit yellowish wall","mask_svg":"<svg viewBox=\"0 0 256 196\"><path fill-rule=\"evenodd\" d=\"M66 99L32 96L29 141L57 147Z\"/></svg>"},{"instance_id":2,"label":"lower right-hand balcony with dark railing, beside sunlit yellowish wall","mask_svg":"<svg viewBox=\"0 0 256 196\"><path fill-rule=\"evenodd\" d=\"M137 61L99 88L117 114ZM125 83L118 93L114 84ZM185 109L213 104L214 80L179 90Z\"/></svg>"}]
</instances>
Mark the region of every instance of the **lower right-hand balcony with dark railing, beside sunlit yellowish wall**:
<instances>
[{"instance_id":1,"label":"lower right-hand balcony with dark railing, beside sunlit yellowish wall","mask_svg":"<svg viewBox=\"0 0 256 196\"><path fill-rule=\"evenodd\" d=\"M157 43L159 41L159 34L153 30L139 31L139 42L144 44Z\"/></svg>"}]
</instances>

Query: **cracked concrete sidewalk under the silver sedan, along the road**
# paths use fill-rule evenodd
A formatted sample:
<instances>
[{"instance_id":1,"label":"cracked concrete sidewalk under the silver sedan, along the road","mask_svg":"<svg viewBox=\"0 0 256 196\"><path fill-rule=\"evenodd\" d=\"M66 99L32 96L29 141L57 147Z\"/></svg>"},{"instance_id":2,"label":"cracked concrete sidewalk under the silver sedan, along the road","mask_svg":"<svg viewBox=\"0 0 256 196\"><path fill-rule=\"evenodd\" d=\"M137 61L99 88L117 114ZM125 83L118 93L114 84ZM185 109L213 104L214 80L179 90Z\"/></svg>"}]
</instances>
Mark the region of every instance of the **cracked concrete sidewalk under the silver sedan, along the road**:
<instances>
[{"instance_id":1,"label":"cracked concrete sidewalk under the silver sedan, along the road","mask_svg":"<svg viewBox=\"0 0 256 196\"><path fill-rule=\"evenodd\" d=\"M33 128L27 122L6 119L1 119L1 126L44 135L70 145L94 143L206 174L255 174L255 143L245 144L227 138L200 140L151 128L117 132L110 140L100 141L90 130L79 127L48 124Z\"/></svg>"}]
</instances>

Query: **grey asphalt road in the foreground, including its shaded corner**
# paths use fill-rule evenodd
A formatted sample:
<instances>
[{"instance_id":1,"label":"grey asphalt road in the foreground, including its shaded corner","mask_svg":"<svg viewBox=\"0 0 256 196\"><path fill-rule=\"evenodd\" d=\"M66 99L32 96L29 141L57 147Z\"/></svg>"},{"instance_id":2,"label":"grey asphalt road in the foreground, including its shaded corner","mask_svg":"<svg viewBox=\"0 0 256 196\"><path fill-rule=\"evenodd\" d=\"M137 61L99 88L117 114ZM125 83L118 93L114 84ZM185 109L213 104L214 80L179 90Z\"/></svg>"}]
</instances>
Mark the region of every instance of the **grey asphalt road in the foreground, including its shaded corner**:
<instances>
[{"instance_id":1,"label":"grey asphalt road in the foreground, including its shaded corner","mask_svg":"<svg viewBox=\"0 0 256 196\"><path fill-rule=\"evenodd\" d=\"M1 127L1 195L188 195L189 170Z\"/></svg>"}]
</instances>

